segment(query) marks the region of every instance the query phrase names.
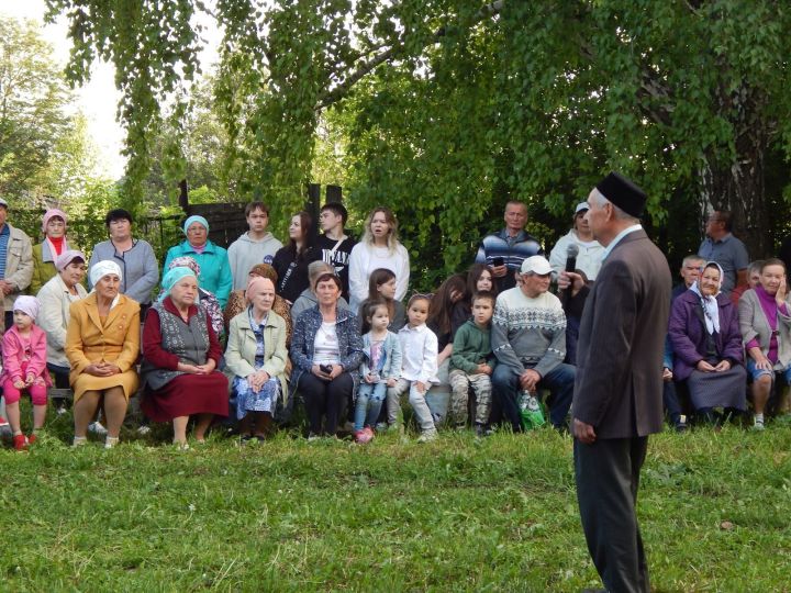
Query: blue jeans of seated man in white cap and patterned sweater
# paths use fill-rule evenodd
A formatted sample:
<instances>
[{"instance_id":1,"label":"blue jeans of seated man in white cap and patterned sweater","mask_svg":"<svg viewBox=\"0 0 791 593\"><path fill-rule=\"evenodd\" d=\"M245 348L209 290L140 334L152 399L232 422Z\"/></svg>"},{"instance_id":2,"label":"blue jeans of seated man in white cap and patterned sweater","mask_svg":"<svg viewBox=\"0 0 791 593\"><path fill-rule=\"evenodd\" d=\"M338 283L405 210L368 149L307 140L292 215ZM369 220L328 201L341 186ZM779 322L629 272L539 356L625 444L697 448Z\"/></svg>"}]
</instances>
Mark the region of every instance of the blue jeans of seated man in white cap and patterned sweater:
<instances>
[{"instance_id":1,"label":"blue jeans of seated man in white cap and patterned sweater","mask_svg":"<svg viewBox=\"0 0 791 593\"><path fill-rule=\"evenodd\" d=\"M566 416L568 416L573 399L575 376L575 367L562 362L542 377L538 382L538 389L549 388L552 393L548 400L549 422L555 428L567 426ZM516 369L506 365L494 367L492 394L499 402L503 415L511 423L514 433L522 432L522 415L517 401L521 391L520 376Z\"/></svg>"}]
</instances>

